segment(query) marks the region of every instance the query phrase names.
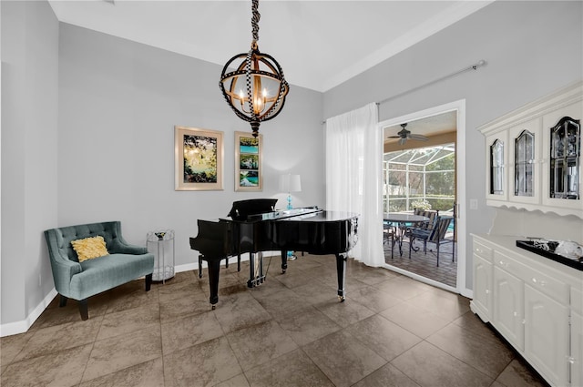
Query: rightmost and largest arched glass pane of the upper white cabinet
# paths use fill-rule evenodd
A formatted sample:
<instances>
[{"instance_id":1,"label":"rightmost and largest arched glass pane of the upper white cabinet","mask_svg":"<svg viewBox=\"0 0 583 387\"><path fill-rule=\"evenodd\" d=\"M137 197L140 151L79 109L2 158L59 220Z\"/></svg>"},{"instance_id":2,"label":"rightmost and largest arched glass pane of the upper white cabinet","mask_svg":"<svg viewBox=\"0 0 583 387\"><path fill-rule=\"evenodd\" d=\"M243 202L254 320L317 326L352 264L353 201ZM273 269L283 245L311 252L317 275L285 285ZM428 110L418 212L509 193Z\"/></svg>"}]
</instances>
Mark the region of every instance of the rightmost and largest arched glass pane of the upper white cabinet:
<instances>
[{"instance_id":1,"label":"rightmost and largest arched glass pane of the upper white cabinet","mask_svg":"<svg viewBox=\"0 0 583 387\"><path fill-rule=\"evenodd\" d=\"M571 117L561 118L550 130L550 197L579 199L578 171L581 127Z\"/></svg>"}]
</instances>

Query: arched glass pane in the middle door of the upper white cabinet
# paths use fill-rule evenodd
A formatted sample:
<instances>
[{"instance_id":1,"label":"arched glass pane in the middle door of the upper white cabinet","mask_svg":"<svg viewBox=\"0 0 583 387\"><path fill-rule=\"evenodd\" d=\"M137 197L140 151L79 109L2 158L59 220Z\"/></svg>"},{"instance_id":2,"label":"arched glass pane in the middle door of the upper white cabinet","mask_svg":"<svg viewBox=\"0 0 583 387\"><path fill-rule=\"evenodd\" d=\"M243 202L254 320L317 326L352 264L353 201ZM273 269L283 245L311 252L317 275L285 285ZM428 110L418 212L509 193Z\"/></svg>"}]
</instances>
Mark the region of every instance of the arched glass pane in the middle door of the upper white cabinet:
<instances>
[{"instance_id":1,"label":"arched glass pane in the middle door of the upper white cabinet","mask_svg":"<svg viewBox=\"0 0 583 387\"><path fill-rule=\"evenodd\" d=\"M523 130L515 139L515 196L533 196L533 173L535 168L535 135Z\"/></svg>"}]
</instances>

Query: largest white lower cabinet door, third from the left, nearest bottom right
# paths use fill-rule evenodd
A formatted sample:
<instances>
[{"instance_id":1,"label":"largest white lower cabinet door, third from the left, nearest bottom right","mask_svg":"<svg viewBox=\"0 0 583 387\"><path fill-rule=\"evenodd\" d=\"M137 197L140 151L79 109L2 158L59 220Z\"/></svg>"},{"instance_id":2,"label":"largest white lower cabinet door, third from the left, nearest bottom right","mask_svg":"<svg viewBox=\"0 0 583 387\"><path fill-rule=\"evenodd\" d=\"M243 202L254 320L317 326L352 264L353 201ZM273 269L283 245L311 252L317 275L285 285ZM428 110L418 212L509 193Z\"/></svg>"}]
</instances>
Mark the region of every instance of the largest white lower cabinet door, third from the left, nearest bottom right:
<instances>
[{"instance_id":1,"label":"largest white lower cabinet door, third from the left, nearest bottom right","mask_svg":"<svg viewBox=\"0 0 583 387\"><path fill-rule=\"evenodd\" d=\"M568 308L525 287L525 358L547 382L568 385Z\"/></svg>"}]
</instances>

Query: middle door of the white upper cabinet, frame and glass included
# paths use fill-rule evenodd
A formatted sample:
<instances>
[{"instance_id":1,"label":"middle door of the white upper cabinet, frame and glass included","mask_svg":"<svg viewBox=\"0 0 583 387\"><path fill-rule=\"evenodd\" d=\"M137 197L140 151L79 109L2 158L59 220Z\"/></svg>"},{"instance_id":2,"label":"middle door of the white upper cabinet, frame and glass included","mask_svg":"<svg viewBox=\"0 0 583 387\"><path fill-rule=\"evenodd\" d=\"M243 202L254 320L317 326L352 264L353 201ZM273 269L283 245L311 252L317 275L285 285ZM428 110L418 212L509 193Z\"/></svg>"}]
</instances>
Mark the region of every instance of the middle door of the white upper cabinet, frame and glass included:
<instances>
[{"instance_id":1,"label":"middle door of the white upper cabinet, frame and glass included","mask_svg":"<svg viewBox=\"0 0 583 387\"><path fill-rule=\"evenodd\" d=\"M542 136L540 117L508 130L508 200L538 204L541 200Z\"/></svg>"}]
</instances>

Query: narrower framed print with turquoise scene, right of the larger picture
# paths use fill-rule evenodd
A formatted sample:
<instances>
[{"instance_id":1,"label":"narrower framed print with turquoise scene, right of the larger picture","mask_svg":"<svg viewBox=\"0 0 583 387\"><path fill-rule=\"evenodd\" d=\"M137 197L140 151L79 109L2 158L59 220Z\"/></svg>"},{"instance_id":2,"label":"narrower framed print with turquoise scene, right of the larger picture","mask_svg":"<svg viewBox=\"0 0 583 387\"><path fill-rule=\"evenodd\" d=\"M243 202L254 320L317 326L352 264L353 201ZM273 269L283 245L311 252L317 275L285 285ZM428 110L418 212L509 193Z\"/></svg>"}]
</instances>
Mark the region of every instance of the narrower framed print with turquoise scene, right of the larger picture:
<instances>
[{"instance_id":1,"label":"narrower framed print with turquoise scene, right of the larger picture","mask_svg":"<svg viewBox=\"0 0 583 387\"><path fill-rule=\"evenodd\" d=\"M261 191L263 136L235 132L235 190Z\"/></svg>"}]
</instances>

